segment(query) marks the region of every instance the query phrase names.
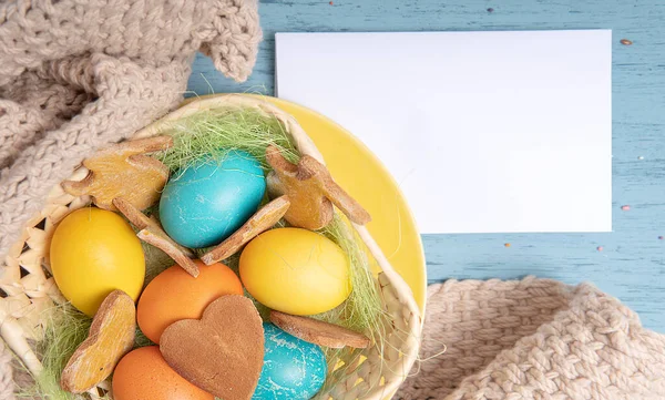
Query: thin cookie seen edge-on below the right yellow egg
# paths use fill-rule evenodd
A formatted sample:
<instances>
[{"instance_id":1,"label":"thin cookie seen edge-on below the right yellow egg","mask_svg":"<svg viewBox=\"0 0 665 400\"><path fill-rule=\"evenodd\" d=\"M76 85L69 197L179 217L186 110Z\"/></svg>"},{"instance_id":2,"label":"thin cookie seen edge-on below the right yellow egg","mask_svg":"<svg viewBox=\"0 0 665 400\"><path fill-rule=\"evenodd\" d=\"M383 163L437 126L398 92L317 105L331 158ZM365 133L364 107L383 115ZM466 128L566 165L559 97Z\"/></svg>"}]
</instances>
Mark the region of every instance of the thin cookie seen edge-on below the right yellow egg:
<instances>
[{"instance_id":1,"label":"thin cookie seen edge-on below the right yellow egg","mask_svg":"<svg viewBox=\"0 0 665 400\"><path fill-rule=\"evenodd\" d=\"M369 346L367 336L314 318L273 310L270 311L270 321L298 339L324 347L341 349L348 346L364 349Z\"/></svg>"}]
</instances>

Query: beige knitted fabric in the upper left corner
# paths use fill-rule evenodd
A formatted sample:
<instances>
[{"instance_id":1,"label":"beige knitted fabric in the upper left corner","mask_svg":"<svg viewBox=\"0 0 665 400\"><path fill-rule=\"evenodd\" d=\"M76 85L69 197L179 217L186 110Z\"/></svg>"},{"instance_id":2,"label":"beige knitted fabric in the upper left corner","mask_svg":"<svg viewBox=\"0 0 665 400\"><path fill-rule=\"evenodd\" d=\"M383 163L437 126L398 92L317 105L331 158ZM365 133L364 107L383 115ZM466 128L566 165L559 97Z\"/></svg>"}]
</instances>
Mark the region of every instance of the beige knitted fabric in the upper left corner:
<instances>
[{"instance_id":1,"label":"beige knitted fabric in the upper left corner","mask_svg":"<svg viewBox=\"0 0 665 400\"><path fill-rule=\"evenodd\" d=\"M0 259L95 148L174 109L197 50L244 81L256 0L0 1Z\"/></svg>"}]
</instances>

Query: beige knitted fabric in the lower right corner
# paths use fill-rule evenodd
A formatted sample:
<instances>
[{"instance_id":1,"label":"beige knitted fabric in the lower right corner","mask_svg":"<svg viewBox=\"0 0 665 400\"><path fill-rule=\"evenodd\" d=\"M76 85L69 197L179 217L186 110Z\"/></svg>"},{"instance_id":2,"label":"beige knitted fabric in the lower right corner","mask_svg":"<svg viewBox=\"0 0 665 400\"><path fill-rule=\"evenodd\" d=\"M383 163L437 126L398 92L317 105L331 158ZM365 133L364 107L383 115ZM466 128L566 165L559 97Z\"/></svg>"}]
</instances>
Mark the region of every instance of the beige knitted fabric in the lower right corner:
<instances>
[{"instance_id":1,"label":"beige knitted fabric in the lower right corner","mask_svg":"<svg viewBox=\"0 0 665 400\"><path fill-rule=\"evenodd\" d=\"M405 400L662 400L665 336L595 287L448 280L428 288Z\"/></svg>"}]
</instances>

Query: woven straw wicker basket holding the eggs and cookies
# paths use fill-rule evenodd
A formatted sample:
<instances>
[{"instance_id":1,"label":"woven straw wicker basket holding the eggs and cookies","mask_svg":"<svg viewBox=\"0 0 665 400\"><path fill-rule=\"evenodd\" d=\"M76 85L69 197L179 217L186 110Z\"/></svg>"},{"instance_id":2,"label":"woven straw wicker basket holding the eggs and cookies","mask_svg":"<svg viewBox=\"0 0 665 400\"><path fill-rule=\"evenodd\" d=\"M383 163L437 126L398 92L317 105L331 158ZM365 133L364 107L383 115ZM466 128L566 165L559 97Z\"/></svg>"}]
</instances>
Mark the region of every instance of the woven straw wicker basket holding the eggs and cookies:
<instances>
[{"instance_id":1,"label":"woven straw wicker basket holding the eggs and cookies","mask_svg":"<svg viewBox=\"0 0 665 400\"><path fill-rule=\"evenodd\" d=\"M175 120L201 110L222 107L252 107L278 119L301 154L324 162L320 152L291 115L260 98L250 95L227 94L193 101L139 131L134 137L163 133ZM70 180L82 180L86 173L84 167L80 167ZM31 343L40 340L43 334L41 311L51 307L53 302L65 301L50 274L50 237L65 215L88 204L90 198L86 196L73 197L64 193L60 185L53 187L45 206L28 222L21 239L12 246L1 267L0 289L3 293L0 298L0 332L14 353L34 373L40 371L41 363ZM354 228L382 269L377 284L391 324L388 324L389 331L382 343L348 352L345 359L338 360L357 368L345 369L349 371L347 376L330 390L317 394L317 399L389 398L408 376L419 350L421 316L411 289L391 267L367 228L360 225L354 225ZM109 386L106 381L100 384L100 388L109 389ZM96 391L92 390L91 396L98 397Z\"/></svg>"}]
</instances>

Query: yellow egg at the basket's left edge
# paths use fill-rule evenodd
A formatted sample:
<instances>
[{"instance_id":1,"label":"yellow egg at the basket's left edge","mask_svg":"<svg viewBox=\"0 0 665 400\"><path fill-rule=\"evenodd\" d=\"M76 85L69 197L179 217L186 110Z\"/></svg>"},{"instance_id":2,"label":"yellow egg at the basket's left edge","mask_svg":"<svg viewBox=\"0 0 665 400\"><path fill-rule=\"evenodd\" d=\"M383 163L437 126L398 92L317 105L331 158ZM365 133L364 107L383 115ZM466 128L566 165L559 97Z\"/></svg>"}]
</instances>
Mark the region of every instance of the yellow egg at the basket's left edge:
<instances>
[{"instance_id":1,"label":"yellow egg at the basket's left edge","mask_svg":"<svg viewBox=\"0 0 665 400\"><path fill-rule=\"evenodd\" d=\"M139 299L145 278L141 242L120 215L85 207L68 215L51 239L51 270L62 295L93 316L120 289Z\"/></svg>"}]
</instances>

